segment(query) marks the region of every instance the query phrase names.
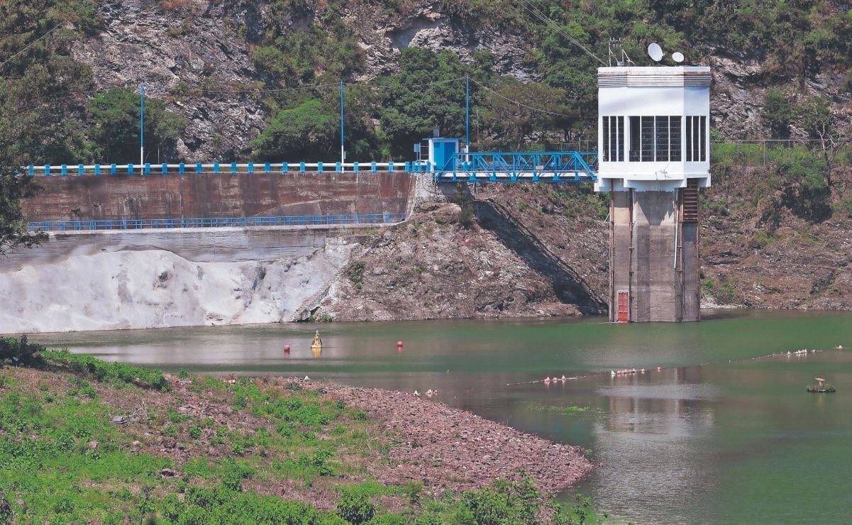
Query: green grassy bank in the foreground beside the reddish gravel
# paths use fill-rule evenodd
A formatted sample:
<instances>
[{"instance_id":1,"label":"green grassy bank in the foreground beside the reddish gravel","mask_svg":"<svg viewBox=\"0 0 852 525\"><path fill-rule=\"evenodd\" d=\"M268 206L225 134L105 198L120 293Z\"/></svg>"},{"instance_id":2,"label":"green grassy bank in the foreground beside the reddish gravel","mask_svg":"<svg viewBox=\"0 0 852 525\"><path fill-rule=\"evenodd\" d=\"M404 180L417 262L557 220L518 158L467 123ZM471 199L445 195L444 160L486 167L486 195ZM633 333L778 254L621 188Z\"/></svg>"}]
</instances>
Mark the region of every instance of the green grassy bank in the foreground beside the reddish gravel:
<instances>
[{"instance_id":1,"label":"green grassy bank in the foreground beside the reddish gravel","mask_svg":"<svg viewBox=\"0 0 852 525\"><path fill-rule=\"evenodd\" d=\"M550 504L529 478L439 498L423 494L422 483L371 481L366 460L390 443L364 412L322 389L193 376L175 384L180 390L169 389L159 372L26 340L3 339L0 351L4 522L533 523L552 512L558 523L598 523L606 517L588 499ZM20 355L42 370L9 366ZM200 397L187 401L193 395ZM235 412L211 418L202 414L206 409L184 408L199 400ZM269 487L308 497L330 493L335 510L282 499ZM386 499L400 499L402 510L386 509L379 503Z\"/></svg>"}]
</instances>

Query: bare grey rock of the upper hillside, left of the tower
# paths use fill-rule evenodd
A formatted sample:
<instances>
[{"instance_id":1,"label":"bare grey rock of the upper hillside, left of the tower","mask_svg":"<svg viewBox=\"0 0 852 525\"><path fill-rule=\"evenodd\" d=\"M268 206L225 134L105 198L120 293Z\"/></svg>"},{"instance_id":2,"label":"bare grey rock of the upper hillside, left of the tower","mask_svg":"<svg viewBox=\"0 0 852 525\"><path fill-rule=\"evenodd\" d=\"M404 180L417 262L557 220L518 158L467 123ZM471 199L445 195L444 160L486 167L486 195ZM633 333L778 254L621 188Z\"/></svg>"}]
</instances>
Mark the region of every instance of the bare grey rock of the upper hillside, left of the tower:
<instances>
[{"instance_id":1,"label":"bare grey rock of the upper hillside, left of the tower","mask_svg":"<svg viewBox=\"0 0 852 525\"><path fill-rule=\"evenodd\" d=\"M271 22L269 4L107 0L99 7L104 30L75 43L72 56L92 68L95 89L144 83L147 95L168 101L171 111L187 118L186 133L177 143L179 158L244 159L248 142L268 119L263 78L252 63L250 47ZM311 20L327 25L324 4L309 4ZM523 35L464 26L440 5L415 0L400 14L382 3L346 3L344 19L354 29L364 58L347 80L371 80L397 71L400 49L410 45L452 49L463 61L472 61L476 50L488 50L498 72L535 76L524 64L529 49ZM298 16L285 20L291 27L305 23Z\"/></svg>"}]
</instances>

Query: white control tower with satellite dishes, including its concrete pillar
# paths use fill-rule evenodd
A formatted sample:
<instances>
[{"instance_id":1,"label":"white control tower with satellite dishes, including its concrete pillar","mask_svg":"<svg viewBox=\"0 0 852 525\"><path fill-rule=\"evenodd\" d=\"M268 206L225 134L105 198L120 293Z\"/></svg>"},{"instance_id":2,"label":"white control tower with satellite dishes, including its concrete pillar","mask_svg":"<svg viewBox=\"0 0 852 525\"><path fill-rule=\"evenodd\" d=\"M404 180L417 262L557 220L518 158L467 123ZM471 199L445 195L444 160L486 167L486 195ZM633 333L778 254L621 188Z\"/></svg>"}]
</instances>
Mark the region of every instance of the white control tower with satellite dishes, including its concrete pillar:
<instances>
[{"instance_id":1,"label":"white control tower with satellite dishes, including its concrete pillar","mask_svg":"<svg viewBox=\"0 0 852 525\"><path fill-rule=\"evenodd\" d=\"M699 320L710 67L600 67L597 79L595 189L610 194L610 319Z\"/></svg>"}]
</instances>

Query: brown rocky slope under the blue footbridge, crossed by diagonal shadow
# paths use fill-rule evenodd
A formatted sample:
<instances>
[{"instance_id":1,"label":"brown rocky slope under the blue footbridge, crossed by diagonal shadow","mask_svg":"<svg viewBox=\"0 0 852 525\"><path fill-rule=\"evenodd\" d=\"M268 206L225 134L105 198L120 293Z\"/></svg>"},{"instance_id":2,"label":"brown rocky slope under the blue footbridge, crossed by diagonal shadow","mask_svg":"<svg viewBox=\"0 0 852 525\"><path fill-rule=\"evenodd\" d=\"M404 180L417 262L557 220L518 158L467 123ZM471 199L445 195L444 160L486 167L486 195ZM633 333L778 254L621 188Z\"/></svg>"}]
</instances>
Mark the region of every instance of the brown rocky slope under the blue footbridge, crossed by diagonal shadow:
<instances>
[{"instance_id":1,"label":"brown rocky slope under the blue footbridge, crossed by diagonal shadow","mask_svg":"<svg viewBox=\"0 0 852 525\"><path fill-rule=\"evenodd\" d=\"M462 202L427 202L406 224L361 242L318 314L400 320L607 311L608 230L588 203L534 185L486 186Z\"/></svg>"}]
</instances>

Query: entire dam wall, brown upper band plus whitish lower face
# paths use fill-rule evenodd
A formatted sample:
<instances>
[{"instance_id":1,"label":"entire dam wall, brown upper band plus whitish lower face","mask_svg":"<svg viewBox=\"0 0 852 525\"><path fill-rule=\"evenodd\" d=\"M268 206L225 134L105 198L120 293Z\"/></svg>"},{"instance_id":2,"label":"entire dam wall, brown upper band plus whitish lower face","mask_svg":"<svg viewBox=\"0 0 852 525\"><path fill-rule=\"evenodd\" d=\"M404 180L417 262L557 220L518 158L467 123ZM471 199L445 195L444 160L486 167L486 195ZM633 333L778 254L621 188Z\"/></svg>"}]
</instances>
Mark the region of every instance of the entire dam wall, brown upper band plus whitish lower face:
<instances>
[{"instance_id":1,"label":"entire dam wall, brown upper band plus whitish lower face","mask_svg":"<svg viewBox=\"0 0 852 525\"><path fill-rule=\"evenodd\" d=\"M219 179L217 179L219 177ZM39 180L32 221L400 213L389 174L84 176ZM343 228L179 228L50 234L0 260L0 333L291 321L348 268ZM309 308L309 305L308 305Z\"/></svg>"}]
</instances>

